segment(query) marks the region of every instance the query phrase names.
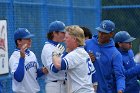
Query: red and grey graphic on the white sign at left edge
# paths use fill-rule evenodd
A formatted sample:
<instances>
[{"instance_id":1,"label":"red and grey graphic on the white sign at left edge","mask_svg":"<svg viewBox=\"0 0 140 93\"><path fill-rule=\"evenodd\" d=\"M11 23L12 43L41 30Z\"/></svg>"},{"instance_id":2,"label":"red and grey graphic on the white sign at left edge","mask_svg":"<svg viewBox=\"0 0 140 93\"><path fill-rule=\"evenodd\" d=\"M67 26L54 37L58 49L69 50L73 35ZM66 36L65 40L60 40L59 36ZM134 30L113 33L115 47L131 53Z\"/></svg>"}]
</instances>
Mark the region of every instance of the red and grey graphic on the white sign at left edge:
<instances>
[{"instance_id":1,"label":"red and grey graphic on the white sign at left edge","mask_svg":"<svg viewBox=\"0 0 140 93\"><path fill-rule=\"evenodd\" d=\"M5 33L4 33L4 25L0 28L0 49L5 51Z\"/></svg>"}]
</instances>

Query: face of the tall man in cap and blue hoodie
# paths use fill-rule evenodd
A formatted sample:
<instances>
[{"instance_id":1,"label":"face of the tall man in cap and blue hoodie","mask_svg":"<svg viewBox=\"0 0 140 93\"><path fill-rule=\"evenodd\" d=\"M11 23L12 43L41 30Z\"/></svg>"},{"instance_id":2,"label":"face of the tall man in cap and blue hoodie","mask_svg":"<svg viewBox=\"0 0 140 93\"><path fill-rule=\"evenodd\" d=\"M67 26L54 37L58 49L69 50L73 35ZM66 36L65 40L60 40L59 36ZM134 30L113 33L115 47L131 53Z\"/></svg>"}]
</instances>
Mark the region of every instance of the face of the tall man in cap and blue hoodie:
<instances>
[{"instance_id":1,"label":"face of the tall man in cap and blue hoodie","mask_svg":"<svg viewBox=\"0 0 140 93\"><path fill-rule=\"evenodd\" d=\"M104 32L99 31L98 33L99 44L109 43L111 36L112 36L112 33L104 33Z\"/></svg>"}]
</instances>

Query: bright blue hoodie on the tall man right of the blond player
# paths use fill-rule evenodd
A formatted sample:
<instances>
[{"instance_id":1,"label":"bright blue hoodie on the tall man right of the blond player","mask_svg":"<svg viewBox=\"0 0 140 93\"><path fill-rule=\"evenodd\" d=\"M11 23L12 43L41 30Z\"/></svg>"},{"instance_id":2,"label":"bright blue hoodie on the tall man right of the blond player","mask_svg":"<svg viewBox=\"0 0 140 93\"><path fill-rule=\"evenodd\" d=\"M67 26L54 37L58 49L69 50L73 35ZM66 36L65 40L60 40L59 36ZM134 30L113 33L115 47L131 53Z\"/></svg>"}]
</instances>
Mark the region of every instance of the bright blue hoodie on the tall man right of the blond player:
<instances>
[{"instance_id":1,"label":"bright blue hoodie on the tall man right of the blond player","mask_svg":"<svg viewBox=\"0 0 140 93\"><path fill-rule=\"evenodd\" d=\"M116 49L113 39L108 44L98 44L98 37L87 40L85 50L93 52L96 60L97 93L117 93L125 89L125 76L122 56Z\"/></svg>"}]
</instances>

